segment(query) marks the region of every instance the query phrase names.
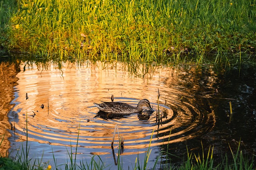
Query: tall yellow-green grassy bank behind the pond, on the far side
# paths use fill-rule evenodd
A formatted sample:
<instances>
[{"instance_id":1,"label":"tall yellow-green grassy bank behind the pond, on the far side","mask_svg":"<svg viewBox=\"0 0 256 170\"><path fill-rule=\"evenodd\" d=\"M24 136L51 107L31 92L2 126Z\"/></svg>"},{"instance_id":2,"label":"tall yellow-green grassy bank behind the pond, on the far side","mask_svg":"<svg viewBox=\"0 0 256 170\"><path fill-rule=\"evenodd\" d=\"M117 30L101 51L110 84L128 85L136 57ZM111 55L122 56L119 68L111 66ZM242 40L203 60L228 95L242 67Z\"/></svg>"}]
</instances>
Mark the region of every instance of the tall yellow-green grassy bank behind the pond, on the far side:
<instances>
[{"instance_id":1,"label":"tall yellow-green grassy bank behind the pond, on the far side","mask_svg":"<svg viewBox=\"0 0 256 170\"><path fill-rule=\"evenodd\" d=\"M36 58L231 64L255 57L256 0L14 2L1 1L1 45Z\"/></svg>"}]
</instances>

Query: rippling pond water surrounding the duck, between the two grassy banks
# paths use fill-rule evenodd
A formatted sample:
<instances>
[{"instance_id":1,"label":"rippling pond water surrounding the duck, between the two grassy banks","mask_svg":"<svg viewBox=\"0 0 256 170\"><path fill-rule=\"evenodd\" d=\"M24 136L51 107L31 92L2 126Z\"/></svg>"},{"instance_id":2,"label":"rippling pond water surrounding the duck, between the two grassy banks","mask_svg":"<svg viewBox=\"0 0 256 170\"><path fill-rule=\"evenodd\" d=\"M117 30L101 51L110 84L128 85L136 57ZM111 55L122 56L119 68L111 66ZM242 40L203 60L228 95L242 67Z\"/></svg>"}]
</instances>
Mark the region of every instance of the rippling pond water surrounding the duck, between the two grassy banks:
<instances>
[{"instance_id":1,"label":"rippling pond water surrounding the duck, between the two grassy banks","mask_svg":"<svg viewBox=\"0 0 256 170\"><path fill-rule=\"evenodd\" d=\"M149 146L149 168L158 156L162 162L178 164L187 149L197 154L202 145L206 151L214 145L216 161L230 152L229 145L236 150L239 141L245 153L256 149L256 72L249 66L216 72L210 66L198 69L193 65L174 68L85 61L62 63L60 69L53 63L26 62L2 63L1 68L16 70L2 71L1 75L2 89L9 95L1 94L2 103L8 106L8 115L1 119L7 129L1 134L8 133L1 155L8 149L14 157L28 140L30 158L42 157L42 162L52 165L55 158L60 165L69 161L68 154L76 152L78 141L78 162L90 161L96 154L108 168L116 169L118 134L111 147L116 125L124 137L124 169L132 169L136 158L143 162ZM4 85L4 78L13 83ZM100 113L93 103L111 102L112 95L114 102L132 106L146 98L154 112ZM227 116L230 102L231 119Z\"/></svg>"}]
</instances>

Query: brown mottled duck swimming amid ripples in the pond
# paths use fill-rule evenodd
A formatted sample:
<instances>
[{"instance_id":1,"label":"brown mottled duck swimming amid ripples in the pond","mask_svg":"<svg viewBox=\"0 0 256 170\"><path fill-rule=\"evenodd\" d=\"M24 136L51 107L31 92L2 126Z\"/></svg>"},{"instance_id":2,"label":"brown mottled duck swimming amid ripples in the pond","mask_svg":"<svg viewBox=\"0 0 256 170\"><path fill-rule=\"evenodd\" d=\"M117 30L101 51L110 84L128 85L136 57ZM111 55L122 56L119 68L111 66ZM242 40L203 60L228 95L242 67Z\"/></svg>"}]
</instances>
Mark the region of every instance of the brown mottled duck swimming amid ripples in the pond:
<instances>
[{"instance_id":1,"label":"brown mottled duck swimming amid ripples in the pond","mask_svg":"<svg viewBox=\"0 0 256 170\"><path fill-rule=\"evenodd\" d=\"M94 103L94 105L97 106L100 111L104 111L107 113L137 113L142 111L142 106L146 106L151 111L154 111L150 106L150 102L147 99L140 100L137 107L133 107L121 102L103 102L101 104Z\"/></svg>"}]
</instances>

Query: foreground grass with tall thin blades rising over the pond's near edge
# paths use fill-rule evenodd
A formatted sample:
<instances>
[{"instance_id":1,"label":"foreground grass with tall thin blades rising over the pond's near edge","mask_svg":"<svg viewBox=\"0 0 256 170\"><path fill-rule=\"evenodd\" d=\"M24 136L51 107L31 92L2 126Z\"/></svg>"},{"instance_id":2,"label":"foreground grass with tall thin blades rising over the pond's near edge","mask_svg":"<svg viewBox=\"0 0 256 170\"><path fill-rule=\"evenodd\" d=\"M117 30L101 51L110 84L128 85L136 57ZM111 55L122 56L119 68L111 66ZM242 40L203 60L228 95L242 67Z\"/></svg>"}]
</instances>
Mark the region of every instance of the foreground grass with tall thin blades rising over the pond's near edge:
<instances>
[{"instance_id":1,"label":"foreground grass with tall thin blades rising over the pond's near edge","mask_svg":"<svg viewBox=\"0 0 256 170\"><path fill-rule=\"evenodd\" d=\"M0 156L0 169L1 170L21 170L21 169L26 169L26 170L51 170L51 169L56 169L56 170L60 170L61 168L59 168L60 166L65 167L65 170L105 170L105 169L112 169L112 166L116 166L116 168L118 170L122 170L123 168L123 162L122 162L122 155L121 155L121 142L119 143L119 149L118 149L118 162L115 165L106 165L105 162L102 161L102 159L100 158L100 156L94 155L91 157L90 161L87 160L78 160L76 158L77 155L77 151L78 151L78 141L79 141L79 131L80 131L80 125L78 128L78 135L77 135L77 141L76 141L76 149L75 152L72 152L72 144L70 143L70 149L71 151L68 152L67 149L67 155L68 155L68 160L66 163L64 164L57 164L57 159L55 159L54 157L54 152L53 153L53 160L54 160L54 166L49 164L49 162L44 163L44 165L42 166L42 158L43 158L43 153L42 153L42 158L39 159L34 159L32 160L32 158L29 159L30 155L29 155L29 150L30 147L28 146L28 119L26 117L26 129L24 129L24 131L26 132L26 146L25 148L21 147L21 153L17 152L14 160L12 160L11 158L8 158L8 155L6 155L6 157L2 157L2 155ZM150 141L149 141L149 147L145 152L145 156L144 159L140 160L139 159L139 155L138 158L136 158L134 165L132 165L132 169L134 170L146 170L148 169L148 163L149 163L149 158L150 158L150 153L151 153L151 149L150 149L150 144L152 141L152 136L153 136L154 131L152 132ZM2 137L3 139L3 137ZM170 138L168 139L170 140ZM2 142L0 142L1 144ZM167 150L168 150L169 145L167 146ZM213 152L214 152L214 147L209 147L208 153L206 154L206 156L204 155L204 149L203 149L203 144L202 144L202 154L195 154L195 153L190 153L187 150L187 158L184 158L183 160L183 164L180 164L178 166L173 166L171 162L168 162L167 160L168 155L172 155L168 153L168 151L162 151L161 153L163 153L163 155L166 155L166 162L162 162L162 160L160 162L158 162L158 159L161 157L161 154L155 158L155 162L153 164L151 164L150 169L152 170L156 170L159 168L158 165L160 165L160 167L162 167L161 169L163 170L209 170L209 169L214 169L214 170L252 170L252 169L256 169L253 160L254 158L249 159L247 156L245 156L242 153L242 150L240 150L240 143L238 145L238 149L236 151L236 153L234 153L230 147L230 151L231 151L231 155L232 155L232 160L230 160L230 158L228 158L227 154L223 157L222 162L218 163L216 166L214 166L214 158L213 158ZM73 157L73 154L75 155ZM185 153L184 153L185 154ZM255 155L252 155L252 157L254 157ZM171 160L171 159L170 159ZM143 161L143 163L140 161ZM79 162L79 163L78 163Z\"/></svg>"}]
</instances>

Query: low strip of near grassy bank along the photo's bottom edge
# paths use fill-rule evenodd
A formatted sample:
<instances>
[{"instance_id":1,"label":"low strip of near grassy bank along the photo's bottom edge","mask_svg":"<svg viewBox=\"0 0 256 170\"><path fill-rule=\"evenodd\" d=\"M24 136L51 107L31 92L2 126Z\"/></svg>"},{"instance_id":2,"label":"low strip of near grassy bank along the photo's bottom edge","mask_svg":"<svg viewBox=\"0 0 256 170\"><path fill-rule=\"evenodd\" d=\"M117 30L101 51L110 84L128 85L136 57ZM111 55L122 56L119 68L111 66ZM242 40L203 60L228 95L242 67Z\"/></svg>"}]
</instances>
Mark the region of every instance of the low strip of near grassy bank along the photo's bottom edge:
<instances>
[{"instance_id":1,"label":"low strip of near grassy bank along the photo's bottom edge","mask_svg":"<svg viewBox=\"0 0 256 170\"><path fill-rule=\"evenodd\" d=\"M230 149L231 150L231 149ZM255 162L252 159L248 159L247 156L242 154L242 151L239 151L239 148L236 152L232 152L232 159L230 160L228 156L223 155L222 162L216 164L213 159L214 148L210 148L206 154L193 154L187 153L185 156L183 164L172 164L168 161L156 160L153 165L149 164L149 155L150 148L145 153L144 159L136 159L135 163L132 164L130 169L133 170L146 170L146 169L162 169L162 170L256 170ZM100 156L92 156L90 161L86 160L77 160L76 153L72 155L68 153L70 159L67 160L64 164L56 164L57 159L54 158L54 165L50 165L49 162L42 162L42 159L37 160L28 159L27 155L28 150L21 149L21 154L17 154L15 160L6 157L0 157L0 169L1 170L110 170L110 169L129 169L129 167L124 167L122 165L122 157L118 155L117 165L109 165L106 162L102 162ZM120 157L120 158L119 158ZM168 159L168 157L166 157ZM121 162L120 162L121 161ZM64 166L65 168L60 168Z\"/></svg>"}]
</instances>

